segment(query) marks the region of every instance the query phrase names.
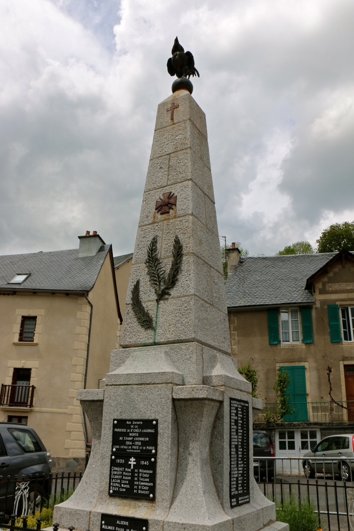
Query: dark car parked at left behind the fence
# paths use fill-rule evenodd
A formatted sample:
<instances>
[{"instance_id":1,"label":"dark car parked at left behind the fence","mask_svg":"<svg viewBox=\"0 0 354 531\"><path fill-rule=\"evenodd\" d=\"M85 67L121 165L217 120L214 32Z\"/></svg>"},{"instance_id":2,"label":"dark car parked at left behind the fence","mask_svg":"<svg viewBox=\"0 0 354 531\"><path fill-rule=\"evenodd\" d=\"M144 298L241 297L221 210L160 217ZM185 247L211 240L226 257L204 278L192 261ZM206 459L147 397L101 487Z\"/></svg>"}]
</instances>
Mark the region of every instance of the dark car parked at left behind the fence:
<instances>
[{"instance_id":1,"label":"dark car parked at left behind the fence","mask_svg":"<svg viewBox=\"0 0 354 531\"><path fill-rule=\"evenodd\" d=\"M30 426L0 422L0 511L30 514L49 490L50 453ZM17 476L17 482L15 481Z\"/></svg>"}]
</instances>

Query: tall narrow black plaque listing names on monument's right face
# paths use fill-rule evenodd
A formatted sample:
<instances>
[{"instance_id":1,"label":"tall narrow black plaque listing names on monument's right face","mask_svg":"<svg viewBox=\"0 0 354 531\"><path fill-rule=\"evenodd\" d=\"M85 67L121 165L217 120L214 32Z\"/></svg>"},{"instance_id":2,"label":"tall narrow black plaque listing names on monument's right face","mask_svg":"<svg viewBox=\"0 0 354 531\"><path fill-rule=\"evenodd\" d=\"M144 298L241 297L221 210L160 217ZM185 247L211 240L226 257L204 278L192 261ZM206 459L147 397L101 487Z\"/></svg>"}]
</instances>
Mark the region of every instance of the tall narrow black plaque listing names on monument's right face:
<instances>
[{"instance_id":1,"label":"tall narrow black plaque listing names on monument's right face","mask_svg":"<svg viewBox=\"0 0 354 531\"><path fill-rule=\"evenodd\" d=\"M230 506L249 501L249 405L230 398Z\"/></svg>"}]
</instances>

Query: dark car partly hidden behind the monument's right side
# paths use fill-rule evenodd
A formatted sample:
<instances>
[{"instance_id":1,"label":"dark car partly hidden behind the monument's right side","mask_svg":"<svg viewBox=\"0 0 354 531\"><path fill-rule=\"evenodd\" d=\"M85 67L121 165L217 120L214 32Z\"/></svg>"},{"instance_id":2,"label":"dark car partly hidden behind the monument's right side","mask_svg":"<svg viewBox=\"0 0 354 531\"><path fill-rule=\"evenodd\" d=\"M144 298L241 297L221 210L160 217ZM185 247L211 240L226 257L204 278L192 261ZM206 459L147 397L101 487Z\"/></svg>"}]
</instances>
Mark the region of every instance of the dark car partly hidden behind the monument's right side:
<instances>
[{"instance_id":1,"label":"dark car partly hidden behind the monument's right side","mask_svg":"<svg viewBox=\"0 0 354 531\"><path fill-rule=\"evenodd\" d=\"M253 457L275 457L272 439L264 431L253 432ZM253 475L257 481L275 481L274 461L254 459Z\"/></svg>"}]
</instances>

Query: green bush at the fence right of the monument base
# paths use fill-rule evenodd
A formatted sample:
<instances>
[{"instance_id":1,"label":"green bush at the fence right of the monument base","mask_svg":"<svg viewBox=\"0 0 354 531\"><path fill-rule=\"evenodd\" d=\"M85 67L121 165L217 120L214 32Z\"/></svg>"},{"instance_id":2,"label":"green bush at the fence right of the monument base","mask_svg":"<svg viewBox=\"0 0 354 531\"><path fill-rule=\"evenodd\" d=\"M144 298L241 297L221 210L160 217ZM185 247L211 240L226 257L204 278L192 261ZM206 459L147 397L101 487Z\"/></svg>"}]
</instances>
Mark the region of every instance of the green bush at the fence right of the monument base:
<instances>
[{"instance_id":1,"label":"green bush at the fence right of the monument base","mask_svg":"<svg viewBox=\"0 0 354 531\"><path fill-rule=\"evenodd\" d=\"M306 497L299 500L291 496L282 504L277 500L275 508L277 520L289 524L290 531L321 531L313 500L308 502Z\"/></svg>"}]
</instances>

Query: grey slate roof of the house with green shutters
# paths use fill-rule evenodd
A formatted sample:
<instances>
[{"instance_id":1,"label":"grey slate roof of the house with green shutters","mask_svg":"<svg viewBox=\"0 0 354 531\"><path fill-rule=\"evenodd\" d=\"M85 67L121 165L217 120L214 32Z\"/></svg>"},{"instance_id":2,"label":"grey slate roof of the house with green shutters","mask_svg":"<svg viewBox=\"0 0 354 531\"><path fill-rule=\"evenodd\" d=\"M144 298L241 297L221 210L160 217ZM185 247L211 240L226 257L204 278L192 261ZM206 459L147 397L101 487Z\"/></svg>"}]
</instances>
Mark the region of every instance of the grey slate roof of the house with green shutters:
<instances>
[{"instance_id":1,"label":"grey slate roof of the house with green shutters","mask_svg":"<svg viewBox=\"0 0 354 531\"><path fill-rule=\"evenodd\" d=\"M247 256L231 267L226 281L228 308L314 304L306 280L338 253Z\"/></svg>"}]
</instances>

